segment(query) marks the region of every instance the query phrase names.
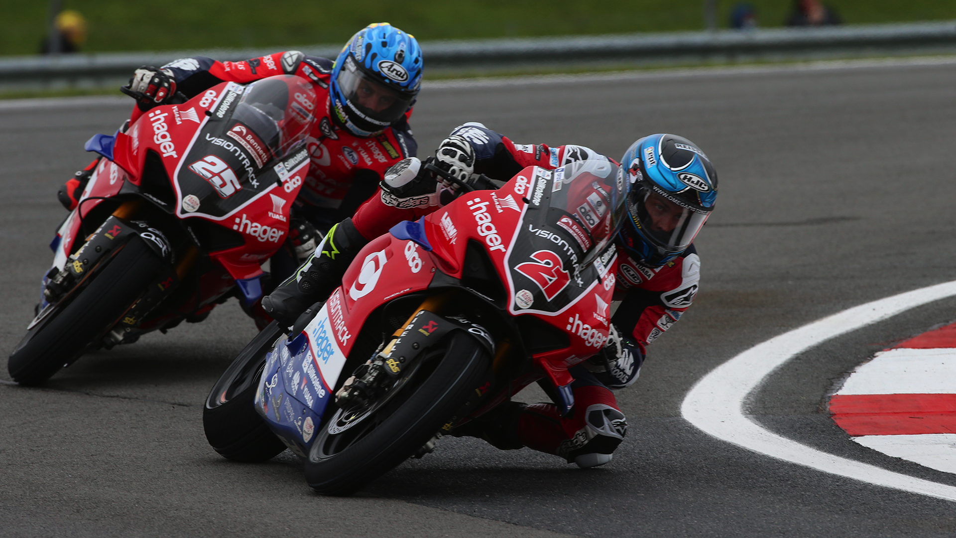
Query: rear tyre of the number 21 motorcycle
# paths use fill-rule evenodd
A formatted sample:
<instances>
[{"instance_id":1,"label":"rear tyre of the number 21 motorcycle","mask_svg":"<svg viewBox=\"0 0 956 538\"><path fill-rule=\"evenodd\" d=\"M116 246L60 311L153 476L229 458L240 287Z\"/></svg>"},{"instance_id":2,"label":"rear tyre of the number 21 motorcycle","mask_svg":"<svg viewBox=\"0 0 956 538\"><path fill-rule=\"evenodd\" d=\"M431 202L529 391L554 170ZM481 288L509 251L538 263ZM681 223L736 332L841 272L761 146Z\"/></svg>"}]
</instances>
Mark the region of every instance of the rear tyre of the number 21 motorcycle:
<instances>
[{"instance_id":1,"label":"rear tyre of the number 21 motorcycle","mask_svg":"<svg viewBox=\"0 0 956 538\"><path fill-rule=\"evenodd\" d=\"M206 397L203 429L213 450L233 461L272 460L286 449L266 421L255 412L255 391L266 366L266 354L284 334L272 322L239 352Z\"/></svg>"}]
</instances>

